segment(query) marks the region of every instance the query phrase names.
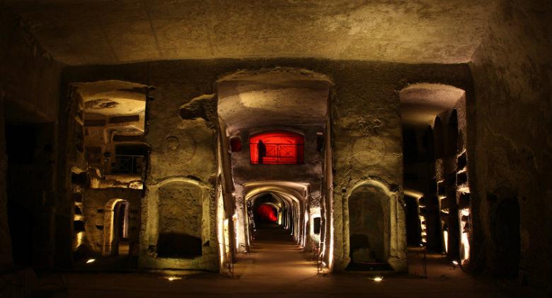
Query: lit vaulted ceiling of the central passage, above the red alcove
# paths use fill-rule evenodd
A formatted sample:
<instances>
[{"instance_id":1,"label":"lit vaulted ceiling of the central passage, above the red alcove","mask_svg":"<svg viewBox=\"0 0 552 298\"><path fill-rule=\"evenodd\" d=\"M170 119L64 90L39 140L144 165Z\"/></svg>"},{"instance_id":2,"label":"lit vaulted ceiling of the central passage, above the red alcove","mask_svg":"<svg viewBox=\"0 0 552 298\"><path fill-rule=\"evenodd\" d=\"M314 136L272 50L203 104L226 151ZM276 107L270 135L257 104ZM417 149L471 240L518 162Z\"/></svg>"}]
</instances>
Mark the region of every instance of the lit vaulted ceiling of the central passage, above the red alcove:
<instances>
[{"instance_id":1,"label":"lit vaulted ceiling of the central passage, above the red alcove","mask_svg":"<svg viewBox=\"0 0 552 298\"><path fill-rule=\"evenodd\" d=\"M219 117L230 133L246 127L322 125L330 81L317 73L276 68L217 82Z\"/></svg>"}]
</instances>

